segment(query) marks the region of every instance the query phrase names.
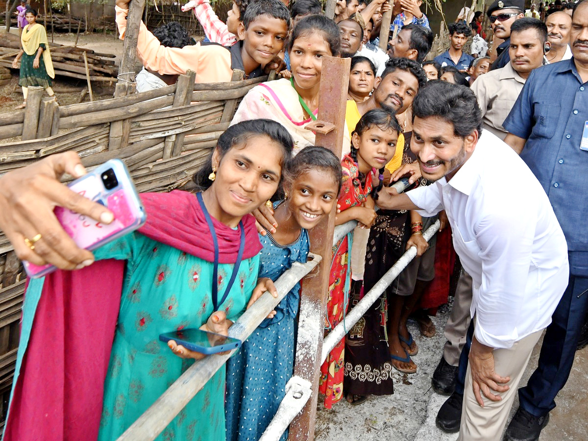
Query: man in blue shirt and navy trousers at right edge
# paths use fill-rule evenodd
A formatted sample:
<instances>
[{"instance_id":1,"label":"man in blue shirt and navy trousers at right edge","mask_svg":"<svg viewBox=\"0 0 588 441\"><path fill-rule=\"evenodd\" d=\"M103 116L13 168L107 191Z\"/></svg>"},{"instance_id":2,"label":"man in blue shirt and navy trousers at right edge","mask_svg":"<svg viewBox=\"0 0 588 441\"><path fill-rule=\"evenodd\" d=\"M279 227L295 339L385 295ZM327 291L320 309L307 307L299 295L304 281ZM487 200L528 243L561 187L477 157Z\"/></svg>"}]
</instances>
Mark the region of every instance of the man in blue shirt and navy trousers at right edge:
<instances>
[{"instance_id":1,"label":"man in blue shirt and navy trousers at right edge","mask_svg":"<svg viewBox=\"0 0 588 441\"><path fill-rule=\"evenodd\" d=\"M572 59L530 74L504 122L505 142L520 153L549 196L570 261L569 285L547 327L539 367L519 389L520 406L507 441L539 439L572 369L588 308L588 0L574 6L570 46Z\"/></svg>"}]
</instances>

